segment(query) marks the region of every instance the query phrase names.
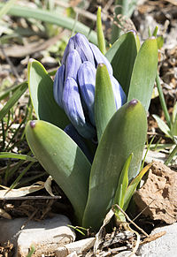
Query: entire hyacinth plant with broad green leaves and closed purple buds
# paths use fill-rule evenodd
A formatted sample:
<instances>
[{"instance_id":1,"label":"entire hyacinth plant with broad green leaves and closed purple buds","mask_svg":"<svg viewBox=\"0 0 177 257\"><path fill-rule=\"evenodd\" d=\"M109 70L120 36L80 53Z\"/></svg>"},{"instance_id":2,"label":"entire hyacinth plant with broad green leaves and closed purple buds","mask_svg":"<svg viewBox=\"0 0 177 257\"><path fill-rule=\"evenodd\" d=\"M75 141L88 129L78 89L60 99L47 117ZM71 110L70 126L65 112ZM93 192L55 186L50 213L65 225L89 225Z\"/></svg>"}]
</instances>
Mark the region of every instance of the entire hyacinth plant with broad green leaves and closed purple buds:
<instances>
[{"instance_id":1,"label":"entire hyacinth plant with broad green leaves and closed purple buds","mask_svg":"<svg viewBox=\"0 0 177 257\"><path fill-rule=\"evenodd\" d=\"M26 128L35 157L71 201L76 223L95 231L113 204L127 209L148 170L140 167L158 64L156 38L141 46L134 31L104 55L100 9L97 35L99 48L83 34L69 40L54 81L42 64L29 62L37 120ZM124 220L119 212L117 218Z\"/></svg>"}]
</instances>

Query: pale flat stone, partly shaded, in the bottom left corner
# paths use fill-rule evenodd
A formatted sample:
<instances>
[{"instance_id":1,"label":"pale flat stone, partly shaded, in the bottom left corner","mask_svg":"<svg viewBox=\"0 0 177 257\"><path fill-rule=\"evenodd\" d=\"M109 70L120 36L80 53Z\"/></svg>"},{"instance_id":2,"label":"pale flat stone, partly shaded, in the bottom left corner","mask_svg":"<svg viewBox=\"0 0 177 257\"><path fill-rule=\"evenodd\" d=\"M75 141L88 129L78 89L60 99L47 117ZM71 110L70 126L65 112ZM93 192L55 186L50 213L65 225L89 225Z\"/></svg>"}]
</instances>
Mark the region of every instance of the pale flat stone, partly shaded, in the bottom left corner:
<instances>
[{"instance_id":1,"label":"pale flat stone, partly shaded, in the bottom left corner","mask_svg":"<svg viewBox=\"0 0 177 257\"><path fill-rule=\"evenodd\" d=\"M20 230L26 223L25 228ZM0 243L3 244L10 240L16 248L18 257L27 256L32 245L35 246L34 257L52 254L58 246L75 240L75 234L68 224L71 223L65 215L55 215L41 222L27 222L27 218L2 219L0 220Z\"/></svg>"}]
</instances>

